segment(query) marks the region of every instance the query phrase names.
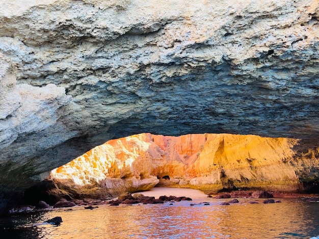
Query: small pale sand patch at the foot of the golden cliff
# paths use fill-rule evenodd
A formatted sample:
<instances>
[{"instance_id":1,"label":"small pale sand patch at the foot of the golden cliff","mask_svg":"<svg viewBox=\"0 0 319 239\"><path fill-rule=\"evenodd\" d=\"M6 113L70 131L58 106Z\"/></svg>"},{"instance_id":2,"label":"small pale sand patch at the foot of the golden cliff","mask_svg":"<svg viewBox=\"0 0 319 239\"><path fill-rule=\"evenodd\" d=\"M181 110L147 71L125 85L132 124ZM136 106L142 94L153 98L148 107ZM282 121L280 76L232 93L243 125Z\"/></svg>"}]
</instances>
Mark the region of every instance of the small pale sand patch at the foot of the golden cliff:
<instances>
[{"instance_id":1,"label":"small pale sand patch at the foot of the golden cliff","mask_svg":"<svg viewBox=\"0 0 319 239\"><path fill-rule=\"evenodd\" d=\"M190 197L192 199L205 199L207 195L204 194L202 191L196 189L189 189L189 188L162 188L162 187L155 187L149 191L140 192L144 196L155 197L158 198L159 196L176 196L176 197Z\"/></svg>"}]
</instances>

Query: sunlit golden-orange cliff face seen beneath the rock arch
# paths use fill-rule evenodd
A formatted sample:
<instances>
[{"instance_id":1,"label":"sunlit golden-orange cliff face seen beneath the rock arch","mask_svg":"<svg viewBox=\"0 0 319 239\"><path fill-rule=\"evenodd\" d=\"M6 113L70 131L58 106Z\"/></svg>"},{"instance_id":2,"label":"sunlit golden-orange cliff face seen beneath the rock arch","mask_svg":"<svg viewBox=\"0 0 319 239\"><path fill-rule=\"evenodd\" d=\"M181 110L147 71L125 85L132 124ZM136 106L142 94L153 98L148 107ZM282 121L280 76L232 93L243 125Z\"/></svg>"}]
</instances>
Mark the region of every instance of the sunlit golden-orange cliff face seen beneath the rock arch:
<instances>
[{"instance_id":1,"label":"sunlit golden-orange cliff face seen beneath the rock arch","mask_svg":"<svg viewBox=\"0 0 319 239\"><path fill-rule=\"evenodd\" d=\"M298 191L302 160L293 150L297 144L297 139L255 135L138 134L93 148L52 170L49 179L83 197L115 196L157 184L207 194L236 188ZM308 166L317 161L314 157Z\"/></svg>"}]
</instances>

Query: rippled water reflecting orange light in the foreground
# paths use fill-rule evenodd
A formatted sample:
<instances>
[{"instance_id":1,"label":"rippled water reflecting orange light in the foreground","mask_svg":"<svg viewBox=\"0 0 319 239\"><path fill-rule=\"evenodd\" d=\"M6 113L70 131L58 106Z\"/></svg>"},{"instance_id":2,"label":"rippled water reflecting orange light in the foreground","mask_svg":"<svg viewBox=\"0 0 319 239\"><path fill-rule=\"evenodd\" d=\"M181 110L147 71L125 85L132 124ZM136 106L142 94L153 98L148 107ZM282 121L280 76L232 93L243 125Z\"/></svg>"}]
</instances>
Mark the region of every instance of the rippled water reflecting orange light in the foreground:
<instances>
[{"instance_id":1,"label":"rippled water reflecting orange light in the foreground","mask_svg":"<svg viewBox=\"0 0 319 239\"><path fill-rule=\"evenodd\" d=\"M207 201L210 205L190 205L199 201L101 205L94 210L75 207L72 211L51 211L28 218L11 217L0 219L2 227L7 224L0 235L6 235L4 238L310 238L319 234L317 203L282 199L282 203L263 204L259 199L259 204L249 204L248 199L240 199L240 203L222 206L218 199ZM60 226L39 224L56 216L63 219Z\"/></svg>"}]
</instances>

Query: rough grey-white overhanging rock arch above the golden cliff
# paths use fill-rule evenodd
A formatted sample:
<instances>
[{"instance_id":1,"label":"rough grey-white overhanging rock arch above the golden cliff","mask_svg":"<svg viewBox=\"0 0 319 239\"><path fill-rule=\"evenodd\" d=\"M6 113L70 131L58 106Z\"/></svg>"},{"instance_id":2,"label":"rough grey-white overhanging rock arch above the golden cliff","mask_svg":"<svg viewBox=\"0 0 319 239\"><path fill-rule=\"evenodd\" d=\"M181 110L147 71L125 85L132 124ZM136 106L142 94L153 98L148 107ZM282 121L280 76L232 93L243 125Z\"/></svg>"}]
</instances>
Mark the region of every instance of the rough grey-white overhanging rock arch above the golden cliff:
<instances>
[{"instance_id":1,"label":"rough grey-white overhanging rock arch above the golden cliff","mask_svg":"<svg viewBox=\"0 0 319 239\"><path fill-rule=\"evenodd\" d=\"M318 146L317 0L0 5L0 213L113 137L235 133Z\"/></svg>"}]
</instances>

